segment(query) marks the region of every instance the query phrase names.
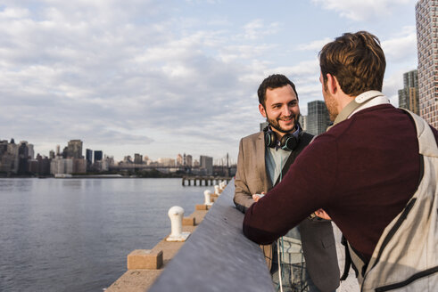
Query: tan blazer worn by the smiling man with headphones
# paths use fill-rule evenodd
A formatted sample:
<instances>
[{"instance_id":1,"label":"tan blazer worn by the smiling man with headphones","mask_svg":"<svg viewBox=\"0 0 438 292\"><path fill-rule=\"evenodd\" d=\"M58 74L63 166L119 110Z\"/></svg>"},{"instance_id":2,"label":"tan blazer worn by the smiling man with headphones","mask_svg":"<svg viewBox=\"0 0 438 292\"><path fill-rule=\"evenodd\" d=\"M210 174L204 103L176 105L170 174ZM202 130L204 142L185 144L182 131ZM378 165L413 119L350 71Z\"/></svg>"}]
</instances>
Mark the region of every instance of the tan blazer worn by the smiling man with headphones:
<instances>
[{"instance_id":1,"label":"tan blazer worn by the smiling man with headphones","mask_svg":"<svg viewBox=\"0 0 438 292\"><path fill-rule=\"evenodd\" d=\"M304 133L296 150L291 152L293 160L310 142L312 135ZM285 167L286 168L286 167ZM283 174L287 172L284 169ZM265 163L264 133L251 134L240 141L235 179L236 207L245 212L254 203L252 194L268 192L272 189ZM302 251L311 280L321 291L334 291L339 287L339 267L337 264L335 236L331 222L305 219L298 225L302 237ZM270 246L263 246L265 255ZM267 255L272 258L272 256ZM270 269L270 261L268 261Z\"/></svg>"}]
</instances>

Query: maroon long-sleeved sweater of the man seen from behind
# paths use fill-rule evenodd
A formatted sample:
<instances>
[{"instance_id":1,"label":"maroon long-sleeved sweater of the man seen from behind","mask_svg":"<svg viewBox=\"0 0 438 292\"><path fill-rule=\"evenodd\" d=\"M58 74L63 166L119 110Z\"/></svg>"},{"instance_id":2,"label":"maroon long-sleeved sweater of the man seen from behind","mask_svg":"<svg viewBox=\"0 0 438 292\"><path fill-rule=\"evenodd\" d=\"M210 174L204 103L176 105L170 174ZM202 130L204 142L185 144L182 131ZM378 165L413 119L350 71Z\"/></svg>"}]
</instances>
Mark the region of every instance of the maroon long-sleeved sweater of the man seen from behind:
<instances>
[{"instance_id":1,"label":"maroon long-sleeved sweater of the man seen from behind","mask_svg":"<svg viewBox=\"0 0 438 292\"><path fill-rule=\"evenodd\" d=\"M244 235L269 244L323 208L368 261L386 225L417 190L419 167L408 114L390 104L361 110L320 134L282 183L252 204Z\"/></svg>"}]
</instances>

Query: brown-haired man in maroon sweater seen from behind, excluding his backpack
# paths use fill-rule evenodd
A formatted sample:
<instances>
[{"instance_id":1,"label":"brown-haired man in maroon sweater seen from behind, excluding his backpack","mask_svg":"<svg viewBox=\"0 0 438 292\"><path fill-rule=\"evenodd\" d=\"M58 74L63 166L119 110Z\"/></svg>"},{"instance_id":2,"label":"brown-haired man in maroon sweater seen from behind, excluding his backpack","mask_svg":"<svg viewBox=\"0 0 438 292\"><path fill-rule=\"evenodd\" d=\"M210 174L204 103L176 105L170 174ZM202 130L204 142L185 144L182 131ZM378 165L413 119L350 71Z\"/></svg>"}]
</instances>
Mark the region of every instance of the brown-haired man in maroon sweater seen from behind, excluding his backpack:
<instances>
[{"instance_id":1,"label":"brown-haired man in maroon sweater seen from behind, excluding his backpack","mask_svg":"<svg viewBox=\"0 0 438 292\"><path fill-rule=\"evenodd\" d=\"M248 209L244 234L269 244L324 209L367 264L384 228L417 189L416 127L381 93L385 60L375 36L359 31L337 37L323 47L319 62L335 125L310 143L283 181Z\"/></svg>"}]
</instances>

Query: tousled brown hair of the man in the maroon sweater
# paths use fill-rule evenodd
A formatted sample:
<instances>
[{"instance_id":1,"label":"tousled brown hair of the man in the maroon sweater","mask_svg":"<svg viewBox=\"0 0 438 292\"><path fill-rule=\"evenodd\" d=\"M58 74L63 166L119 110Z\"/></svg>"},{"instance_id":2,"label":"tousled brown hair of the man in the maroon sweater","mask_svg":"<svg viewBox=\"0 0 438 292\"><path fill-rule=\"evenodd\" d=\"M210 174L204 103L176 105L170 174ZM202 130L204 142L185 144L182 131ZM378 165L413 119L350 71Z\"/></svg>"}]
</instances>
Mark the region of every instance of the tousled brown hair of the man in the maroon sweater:
<instances>
[{"instance_id":1,"label":"tousled brown hair of the man in the maroon sweater","mask_svg":"<svg viewBox=\"0 0 438 292\"><path fill-rule=\"evenodd\" d=\"M336 77L343 93L358 96L368 90L382 91L384 51L379 39L368 31L345 33L324 45L319 66L326 85L326 74Z\"/></svg>"}]
</instances>

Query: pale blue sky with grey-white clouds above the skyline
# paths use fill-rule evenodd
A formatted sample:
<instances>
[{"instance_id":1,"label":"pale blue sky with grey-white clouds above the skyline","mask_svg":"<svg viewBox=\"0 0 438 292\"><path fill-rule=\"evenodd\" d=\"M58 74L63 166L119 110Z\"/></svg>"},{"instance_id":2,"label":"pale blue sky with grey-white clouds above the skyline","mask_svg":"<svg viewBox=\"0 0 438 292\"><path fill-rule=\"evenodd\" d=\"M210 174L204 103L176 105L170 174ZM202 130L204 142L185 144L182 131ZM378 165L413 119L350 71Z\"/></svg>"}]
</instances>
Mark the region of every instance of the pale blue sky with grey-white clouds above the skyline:
<instances>
[{"instance_id":1,"label":"pale blue sky with grey-white clouds above the skyline","mask_svg":"<svg viewBox=\"0 0 438 292\"><path fill-rule=\"evenodd\" d=\"M270 74L296 85L303 115L323 100L318 52L368 30L398 106L417 69L413 0L0 0L0 140L48 156L73 139L121 160L178 153L215 162L264 121Z\"/></svg>"}]
</instances>

